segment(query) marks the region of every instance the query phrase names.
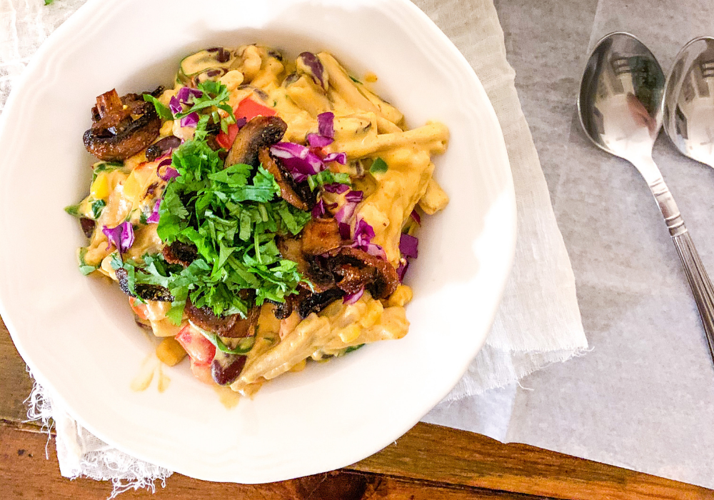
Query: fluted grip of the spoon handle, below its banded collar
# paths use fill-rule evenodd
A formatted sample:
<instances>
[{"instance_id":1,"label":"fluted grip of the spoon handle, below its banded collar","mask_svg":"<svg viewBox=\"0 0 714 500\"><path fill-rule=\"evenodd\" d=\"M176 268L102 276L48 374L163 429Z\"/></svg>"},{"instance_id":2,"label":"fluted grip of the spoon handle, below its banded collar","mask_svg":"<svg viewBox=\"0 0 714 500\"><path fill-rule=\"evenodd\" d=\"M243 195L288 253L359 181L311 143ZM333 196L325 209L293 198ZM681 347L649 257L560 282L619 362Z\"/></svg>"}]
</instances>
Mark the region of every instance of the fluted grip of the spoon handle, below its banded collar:
<instances>
[{"instance_id":1,"label":"fluted grip of the spoon handle, below its banded collar","mask_svg":"<svg viewBox=\"0 0 714 500\"><path fill-rule=\"evenodd\" d=\"M684 271L692 287L694 300L697 302L699 316L702 319L704 333L709 344L709 353L714 361L714 287L712 286L706 269L699 258L694 241L689 235L689 231L682 224L684 231L676 236L672 236L674 246L677 248Z\"/></svg>"}]
</instances>

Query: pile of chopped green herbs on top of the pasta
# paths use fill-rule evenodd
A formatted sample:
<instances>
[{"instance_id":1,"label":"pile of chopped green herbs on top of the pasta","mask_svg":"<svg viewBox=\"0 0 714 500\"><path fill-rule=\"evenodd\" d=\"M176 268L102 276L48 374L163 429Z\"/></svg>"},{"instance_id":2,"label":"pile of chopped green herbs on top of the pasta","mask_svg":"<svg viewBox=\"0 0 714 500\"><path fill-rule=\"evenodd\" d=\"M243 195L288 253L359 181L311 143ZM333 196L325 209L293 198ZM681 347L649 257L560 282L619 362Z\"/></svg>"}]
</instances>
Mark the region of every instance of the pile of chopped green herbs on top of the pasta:
<instances>
[{"instance_id":1,"label":"pile of chopped green herbs on top of the pasta","mask_svg":"<svg viewBox=\"0 0 714 500\"><path fill-rule=\"evenodd\" d=\"M143 262L115 255L112 262L114 269L127 271L130 291L136 284L169 289L174 302L167 316L175 324L187 298L216 315L245 315L252 304L244 297L251 294L241 291L254 290L256 305L266 299L282 302L296 293L303 278L295 262L282 259L275 239L298 234L311 218L281 199L275 178L262 166L224 168L218 151L208 146L206 129L224 128L216 107L225 109L228 92L217 82L206 84L199 86L205 97L191 108L200 116L196 134L172 156L171 167L179 176L164 190L157 228L166 244L195 244L198 259L186 268L166 263L161 255L145 255Z\"/></svg>"}]
</instances>

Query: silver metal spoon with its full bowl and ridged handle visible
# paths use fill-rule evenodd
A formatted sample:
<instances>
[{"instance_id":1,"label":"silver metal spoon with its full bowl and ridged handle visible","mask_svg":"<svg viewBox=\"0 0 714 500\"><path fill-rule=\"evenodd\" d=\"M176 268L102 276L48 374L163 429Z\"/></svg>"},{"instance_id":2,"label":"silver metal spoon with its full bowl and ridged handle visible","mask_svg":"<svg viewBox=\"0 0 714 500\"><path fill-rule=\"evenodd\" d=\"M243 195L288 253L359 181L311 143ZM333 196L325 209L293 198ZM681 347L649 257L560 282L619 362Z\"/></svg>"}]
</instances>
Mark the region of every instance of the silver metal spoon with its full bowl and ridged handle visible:
<instances>
[{"instance_id":1,"label":"silver metal spoon with its full bowl and ridged handle visible","mask_svg":"<svg viewBox=\"0 0 714 500\"><path fill-rule=\"evenodd\" d=\"M611 33L598 42L585 66L578 114L588 137L633 164L650 186L682 259L714 361L714 288L652 160L662 126L664 88L662 69L647 47L628 33Z\"/></svg>"}]
</instances>

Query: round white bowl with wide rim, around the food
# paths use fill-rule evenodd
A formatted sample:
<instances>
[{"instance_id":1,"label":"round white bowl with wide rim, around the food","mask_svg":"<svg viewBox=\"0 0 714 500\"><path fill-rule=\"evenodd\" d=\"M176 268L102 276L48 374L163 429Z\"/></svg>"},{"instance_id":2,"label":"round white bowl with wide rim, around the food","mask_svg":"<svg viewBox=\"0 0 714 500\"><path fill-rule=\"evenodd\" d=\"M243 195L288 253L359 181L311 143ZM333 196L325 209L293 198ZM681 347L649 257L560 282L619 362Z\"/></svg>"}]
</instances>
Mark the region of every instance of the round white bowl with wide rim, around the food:
<instances>
[{"instance_id":1,"label":"round white bowl with wide rim, around the food","mask_svg":"<svg viewBox=\"0 0 714 500\"><path fill-rule=\"evenodd\" d=\"M186 361L130 389L153 344L116 286L82 276L81 136L94 97L171 84L182 56L259 42L331 51L410 126L443 121L436 178L451 196L425 217L407 282L409 334L311 364L226 409ZM188 476L258 483L336 469L408 431L481 348L511 269L516 204L496 114L456 47L407 0L91 0L41 46L0 123L0 314L36 379L86 429Z\"/></svg>"}]
</instances>

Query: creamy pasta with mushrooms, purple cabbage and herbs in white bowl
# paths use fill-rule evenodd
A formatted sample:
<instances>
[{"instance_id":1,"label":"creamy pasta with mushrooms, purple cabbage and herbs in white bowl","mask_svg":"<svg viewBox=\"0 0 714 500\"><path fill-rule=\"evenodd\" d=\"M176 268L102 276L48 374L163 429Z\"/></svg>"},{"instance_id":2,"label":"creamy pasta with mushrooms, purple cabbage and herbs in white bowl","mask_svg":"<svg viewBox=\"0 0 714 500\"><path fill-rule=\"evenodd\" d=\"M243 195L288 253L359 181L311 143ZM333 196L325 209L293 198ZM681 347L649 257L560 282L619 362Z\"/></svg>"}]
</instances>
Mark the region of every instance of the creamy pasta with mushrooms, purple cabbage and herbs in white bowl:
<instances>
[{"instance_id":1,"label":"creamy pasta with mushrooms, purple cabbage and herbs in white bowl","mask_svg":"<svg viewBox=\"0 0 714 500\"><path fill-rule=\"evenodd\" d=\"M247 45L187 56L173 89L96 98L89 196L66 209L89 239L79 269L119 284L161 361L249 395L407 334L448 129L408 129L375 82Z\"/></svg>"}]
</instances>

